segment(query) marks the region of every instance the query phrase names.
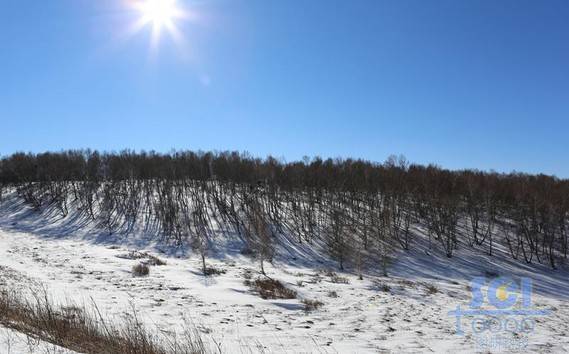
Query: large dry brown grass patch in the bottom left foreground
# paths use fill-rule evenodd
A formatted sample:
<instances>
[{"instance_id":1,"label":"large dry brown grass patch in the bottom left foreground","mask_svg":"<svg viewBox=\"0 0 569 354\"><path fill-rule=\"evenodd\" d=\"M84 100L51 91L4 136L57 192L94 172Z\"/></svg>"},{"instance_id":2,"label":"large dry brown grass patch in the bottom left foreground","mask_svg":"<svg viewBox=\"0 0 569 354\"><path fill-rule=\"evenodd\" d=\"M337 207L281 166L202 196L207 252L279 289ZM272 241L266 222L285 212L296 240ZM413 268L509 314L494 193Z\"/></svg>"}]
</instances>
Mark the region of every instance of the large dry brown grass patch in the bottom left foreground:
<instances>
[{"instance_id":1,"label":"large dry brown grass patch in the bottom left foreground","mask_svg":"<svg viewBox=\"0 0 569 354\"><path fill-rule=\"evenodd\" d=\"M89 313L77 306L57 307L47 292L32 300L0 292L0 324L31 338L81 353L195 354L205 353L195 331L183 340L151 334L133 309L121 325L106 321L96 306Z\"/></svg>"}]
</instances>

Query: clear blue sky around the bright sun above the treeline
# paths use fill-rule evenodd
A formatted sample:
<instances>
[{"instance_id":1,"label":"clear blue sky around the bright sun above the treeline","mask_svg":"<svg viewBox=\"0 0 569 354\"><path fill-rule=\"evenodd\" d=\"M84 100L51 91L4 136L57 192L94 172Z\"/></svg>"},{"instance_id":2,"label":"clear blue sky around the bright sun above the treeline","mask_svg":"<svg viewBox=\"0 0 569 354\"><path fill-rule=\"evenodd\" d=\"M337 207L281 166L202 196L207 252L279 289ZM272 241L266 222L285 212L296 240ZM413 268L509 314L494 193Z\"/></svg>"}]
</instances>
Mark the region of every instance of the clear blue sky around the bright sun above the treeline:
<instances>
[{"instance_id":1,"label":"clear blue sky around the bright sun above the treeline","mask_svg":"<svg viewBox=\"0 0 569 354\"><path fill-rule=\"evenodd\" d=\"M134 1L134 0L128 0ZM569 177L566 0L3 0L0 154L246 150Z\"/></svg>"}]
</instances>

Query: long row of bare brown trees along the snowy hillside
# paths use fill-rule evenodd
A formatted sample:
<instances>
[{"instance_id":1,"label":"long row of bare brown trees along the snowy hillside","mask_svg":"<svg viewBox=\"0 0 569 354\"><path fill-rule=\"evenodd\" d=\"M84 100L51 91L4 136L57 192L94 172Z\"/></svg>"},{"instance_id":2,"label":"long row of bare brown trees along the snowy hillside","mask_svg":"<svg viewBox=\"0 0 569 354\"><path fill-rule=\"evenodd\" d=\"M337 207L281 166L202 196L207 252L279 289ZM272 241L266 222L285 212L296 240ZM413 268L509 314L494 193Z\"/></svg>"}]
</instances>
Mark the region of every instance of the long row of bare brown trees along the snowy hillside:
<instances>
[{"instance_id":1,"label":"long row of bare brown trees along the snowy hillside","mask_svg":"<svg viewBox=\"0 0 569 354\"><path fill-rule=\"evenodd\" d=\"M286 163L236 152L17 153L0 160L0 198L109 233L154 232L205 259L215 235L246 240L264 272L277 239L324 247L338 262L387 272L396 248L423 228L448 257L498 246L555 268L567 258L569 181L544 175L448 171L392 157L385 163L305 158Z\"/></svg>"}]
</instances>

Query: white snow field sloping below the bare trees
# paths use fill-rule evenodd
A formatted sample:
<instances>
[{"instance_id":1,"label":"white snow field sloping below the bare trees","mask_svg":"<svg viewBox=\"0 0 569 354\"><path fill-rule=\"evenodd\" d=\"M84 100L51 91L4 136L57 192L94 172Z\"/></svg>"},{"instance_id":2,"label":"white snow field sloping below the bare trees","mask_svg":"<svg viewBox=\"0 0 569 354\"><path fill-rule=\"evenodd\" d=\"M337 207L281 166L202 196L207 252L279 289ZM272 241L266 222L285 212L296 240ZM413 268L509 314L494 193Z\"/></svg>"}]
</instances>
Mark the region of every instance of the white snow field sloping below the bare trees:
<instances>
[{"instance_id":1,"label":"white snow field sloping below the bare trees","mask_svg":"<svg viewBox=\"0 0 569 354\"><path fill-rule=\"evenodd\" d=\"M513 261L499 247L492 257L461 247L448 259L437 245L428 250L421 229L414 234L412 250L394 255L389 277L370 271L363 280L350 268L338 272L316 246L283 239L267 274L297 291L298 298L264 300L244 284L247 273L259 276L259 266L239 253L238 240L217 241L207 262L225 273L204 277L197 255L143 232L111 237L70 216L60 219L5 202L0 208L0 287L46 287L56 302L96 303L106 317L117 320L134 306L156 331L195 326L212 352L569 352L566 268ZM133 250L167 264L152 266L147 277L133 277L131 268L140 261L128 257ZM522 348L482 345L468 319L462 320L465 334L455 333L449 312L468 307L470 281L484 274L531 277L533 305L551 311L535 318L531 333L500 332L503 340L525 343ZM323 305L307 312L303 299ZM0 353L28 352L66 351L0 329Z\"/></svg>"}]
</instances>

